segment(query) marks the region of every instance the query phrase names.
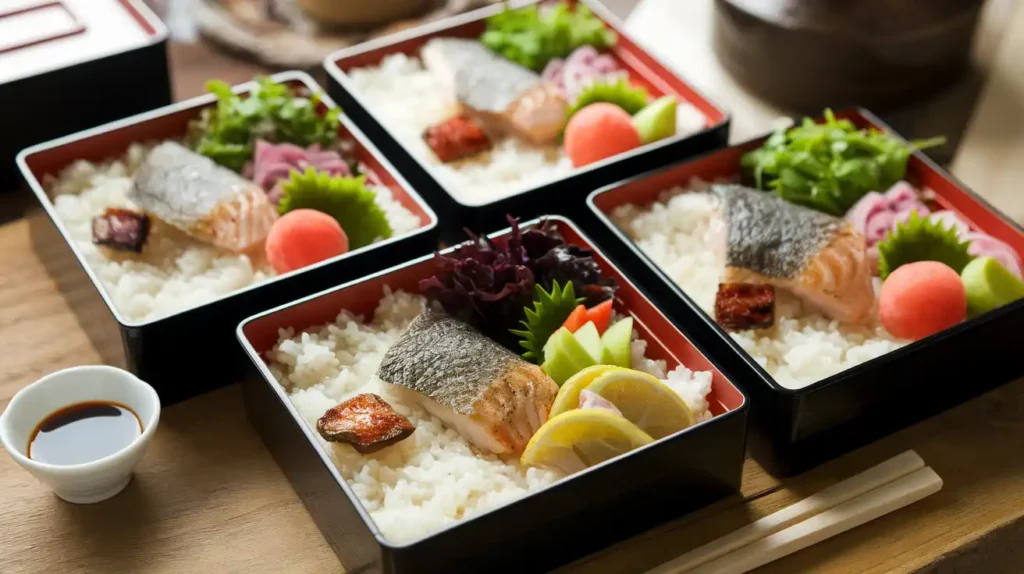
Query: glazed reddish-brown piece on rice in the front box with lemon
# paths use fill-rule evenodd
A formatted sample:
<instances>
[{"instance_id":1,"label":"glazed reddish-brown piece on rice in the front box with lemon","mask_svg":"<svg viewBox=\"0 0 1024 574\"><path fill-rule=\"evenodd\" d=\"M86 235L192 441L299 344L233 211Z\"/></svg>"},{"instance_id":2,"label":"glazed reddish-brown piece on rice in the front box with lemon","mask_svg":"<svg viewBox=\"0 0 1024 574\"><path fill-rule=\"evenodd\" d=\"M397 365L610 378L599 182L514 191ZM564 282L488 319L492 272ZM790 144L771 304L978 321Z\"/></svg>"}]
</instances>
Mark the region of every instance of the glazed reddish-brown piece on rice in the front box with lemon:
<instances>
[{"instance_id":1,"label":"glazed reddish-brown piece on rice in the front box with lemon","mask_svg":"<svg viewBox=\"0 0 1024 574\"><path fill-rule=\"evenodd\" d=\"M373 393L357 395L329 409L316 422L324 440L350 444L369 454L399 442L416 427Z\"/></svg>"}]
</instances>

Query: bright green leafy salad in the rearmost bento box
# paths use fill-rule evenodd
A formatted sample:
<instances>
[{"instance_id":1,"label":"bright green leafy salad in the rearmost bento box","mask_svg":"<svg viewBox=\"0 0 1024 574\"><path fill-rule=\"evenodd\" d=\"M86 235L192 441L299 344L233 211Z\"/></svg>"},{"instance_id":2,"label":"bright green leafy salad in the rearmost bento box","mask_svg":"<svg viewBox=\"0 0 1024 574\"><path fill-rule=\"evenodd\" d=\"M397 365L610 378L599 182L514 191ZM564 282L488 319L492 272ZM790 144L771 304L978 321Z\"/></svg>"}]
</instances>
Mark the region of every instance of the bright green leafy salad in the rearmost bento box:
<instances>
[{"instance_id":1,"label":"bright green leafy salad in the rearmost bento box","mask_svg":"<svg viewBox=\"0 0 1024 574\"><path fill-rule=\"evenodd\" d=\"M480 36L484 46L535 72L581 46L600 50L613 46L616 40L615 33L590 8L581 4L572 10L564 0L543 8L506 6L487 18L486 31Z\"/></svg>"}]
</instances>

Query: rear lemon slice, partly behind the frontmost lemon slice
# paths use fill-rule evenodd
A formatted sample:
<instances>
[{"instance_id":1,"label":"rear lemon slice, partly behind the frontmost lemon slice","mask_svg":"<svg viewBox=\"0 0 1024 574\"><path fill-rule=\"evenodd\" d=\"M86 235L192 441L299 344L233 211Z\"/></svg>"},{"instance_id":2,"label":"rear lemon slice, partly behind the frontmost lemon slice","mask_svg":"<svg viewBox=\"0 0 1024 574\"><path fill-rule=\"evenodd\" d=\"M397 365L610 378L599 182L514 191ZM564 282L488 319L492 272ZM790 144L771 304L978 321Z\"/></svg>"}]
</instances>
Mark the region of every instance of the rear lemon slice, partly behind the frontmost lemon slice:
<instances>
[{"instance_id":1,"label":"rear lemon slice, partly behind the frontmost lemon slice","mask_svg":"<svg viewBox=\"0 0 1024 574\"><path fill-rule=\"evenodd\" d=\"M656 377L632 369L609 370L587 386L642 431L659 439L681 431L696 417L683 398Z\"/></svg>"}]
</instances>

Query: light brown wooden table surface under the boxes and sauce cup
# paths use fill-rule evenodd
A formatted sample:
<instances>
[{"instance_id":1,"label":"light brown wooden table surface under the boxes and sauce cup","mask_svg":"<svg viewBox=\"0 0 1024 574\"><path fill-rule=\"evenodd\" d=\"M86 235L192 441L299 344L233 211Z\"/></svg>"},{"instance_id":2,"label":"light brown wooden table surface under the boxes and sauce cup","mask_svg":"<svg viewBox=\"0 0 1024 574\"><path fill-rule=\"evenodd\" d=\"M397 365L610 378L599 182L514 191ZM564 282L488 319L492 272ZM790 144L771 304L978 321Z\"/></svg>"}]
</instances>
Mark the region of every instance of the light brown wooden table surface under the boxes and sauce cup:
<instances>
[{"instance_id":1,"label":"light brown wooden table surface under the boxes and sauce cup","mask_svg":"<svg viewBox=\"0 0 1024 574\"><path fill-rule=\"evenodd\" d=\"M1013 45L1024 40L1024 17L1017 19L1021 26ZM171 58L179 98L200 93L207 78L234 82L258 72L202 45L174 46ZM982 145L984 135L969 132L968 140ZM1019 158L1024 141L1018 145ZM975 177L979 189L1001 181L995 174ZM48 229L45 216L27 192L8 197L8 221L0 225L0 409L37 378L104 362L119 346L117 332L104 328L103 309L73 311L92 288L71 279L77 263L63 246L39 239ZM1005 201L1024 208L1019 193ZM938 494L758 573L1019 572L1024 549L1014 541L1024 540L1024 381L784 484L749 460L742 496L563 571L641 572L907 448L943 478ZM247 426L237 386L165 409L134 481L112 500L63 503L7 456L0 456L0 500L4 573L342 571Z\"/></svg>"}]
</instances>

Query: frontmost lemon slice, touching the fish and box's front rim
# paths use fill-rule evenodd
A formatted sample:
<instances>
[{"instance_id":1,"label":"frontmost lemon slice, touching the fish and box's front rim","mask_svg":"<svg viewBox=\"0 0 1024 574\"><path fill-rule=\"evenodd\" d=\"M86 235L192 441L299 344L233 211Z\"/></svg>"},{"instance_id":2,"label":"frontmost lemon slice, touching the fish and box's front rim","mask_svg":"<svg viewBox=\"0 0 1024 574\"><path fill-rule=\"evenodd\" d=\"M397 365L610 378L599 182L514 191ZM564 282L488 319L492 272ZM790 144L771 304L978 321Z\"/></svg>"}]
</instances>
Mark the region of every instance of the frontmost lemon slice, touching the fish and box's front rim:
<instances>
[{"instance_id":1,"label":"frontmost lemon slice, touching the fish and box's front rim","mask_svg":"<svg viewBox=\"0 0 1024 574\"><path fill-rule=\"evenodd\" d=\"M549 418L529 439L520 461L572 474L653 442L629 421L585 408Z\"/></svg>"}]
</instances>

